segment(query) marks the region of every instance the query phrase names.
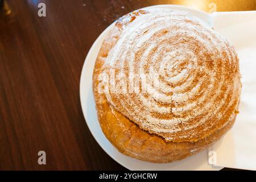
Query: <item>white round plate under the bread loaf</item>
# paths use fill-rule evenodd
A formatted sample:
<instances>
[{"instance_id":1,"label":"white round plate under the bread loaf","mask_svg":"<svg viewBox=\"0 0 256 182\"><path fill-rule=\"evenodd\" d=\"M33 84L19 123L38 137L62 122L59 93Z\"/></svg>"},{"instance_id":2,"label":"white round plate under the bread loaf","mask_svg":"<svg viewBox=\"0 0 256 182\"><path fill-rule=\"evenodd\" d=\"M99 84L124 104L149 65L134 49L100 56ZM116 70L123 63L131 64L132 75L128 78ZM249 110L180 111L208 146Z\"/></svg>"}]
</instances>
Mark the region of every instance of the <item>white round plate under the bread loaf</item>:
<instances>
[{"instance_id":1,"label":"white round plate under the bread loaf","mask_svg":"<svg viewBox=\"0 0 256 182\"><path fill-rule=\"evenodd\" d=\"M150 9L152 7L163 7L174 10L189 11L192 15L203 19L210 25L212 24L211 16L207 13L204 13L203 11L189 9L188 7L177 5L157 5L146 7L146 9ZM92 75L98 51L100 50L105 36L108 34L109 28L112 26L114 26L114 24L111 24L108 28L106 28L106 30L102 32L102 34L97 38L93 46L90 48L90 51L86 56L84 66L82 67L80 79L80 100L82 105L82 112L84 113L85 121L90 129L90 132L98 144L100 144L103 150L116 162L130 170L220 170L221 167L213 167L208 164L207 150L201 151L199 154L193 155L179 162L154 164L143 162L138 159L133 159L129 156L121 154L105 137L97 119L97 112L93 98Z\"/></svg>"}]
</instances>

